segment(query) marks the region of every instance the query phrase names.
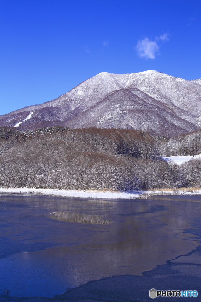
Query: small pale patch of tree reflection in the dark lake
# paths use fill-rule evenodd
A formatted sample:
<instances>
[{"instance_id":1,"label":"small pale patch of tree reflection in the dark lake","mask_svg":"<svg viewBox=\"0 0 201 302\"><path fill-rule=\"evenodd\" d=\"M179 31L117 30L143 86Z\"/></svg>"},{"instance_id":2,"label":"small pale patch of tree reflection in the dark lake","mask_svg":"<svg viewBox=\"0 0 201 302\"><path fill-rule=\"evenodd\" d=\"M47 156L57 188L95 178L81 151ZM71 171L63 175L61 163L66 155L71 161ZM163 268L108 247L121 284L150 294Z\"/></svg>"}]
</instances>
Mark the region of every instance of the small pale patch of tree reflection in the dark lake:
<instances>
[{"instance_id":1,"label":"small pale patch of tree reflection in the dark lake","mask_svg":"<svg viewBox=\"0 0 201 302\"><path fill-rule=\"evenodd\" d=\"M107 224L113 221L103 220L102 215L88 215L79 213L69 213L69 212L54 212L50 218L66 222L79 222L79 223L94 223L94 224Z\"/></svg>"}]
</instances>

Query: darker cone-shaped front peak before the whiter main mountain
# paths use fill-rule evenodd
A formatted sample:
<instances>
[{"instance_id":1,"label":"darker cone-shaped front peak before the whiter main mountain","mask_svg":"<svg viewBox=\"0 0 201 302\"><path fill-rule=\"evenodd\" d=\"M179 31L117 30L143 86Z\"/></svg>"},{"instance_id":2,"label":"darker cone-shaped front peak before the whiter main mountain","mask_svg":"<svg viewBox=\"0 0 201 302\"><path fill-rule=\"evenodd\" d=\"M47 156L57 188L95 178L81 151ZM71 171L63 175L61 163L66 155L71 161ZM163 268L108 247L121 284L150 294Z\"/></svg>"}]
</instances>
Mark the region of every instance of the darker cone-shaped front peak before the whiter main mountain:
<instances>
[{"instance_id":1,"label":"darker cone-shaped front peak before the whiter main mountain","mask_svg":"<svg viewBox=\"0 0 201 302\"><path fill-rule=\"evenodd\" d=\"M151 99L151 98L150 98ZM152 134L174 136L175 132L196 130L192 123L178 118L165 104L148 103L129 89L120 89L68 121L68 127L142 129Z\"/></svg>"}]
</instances>

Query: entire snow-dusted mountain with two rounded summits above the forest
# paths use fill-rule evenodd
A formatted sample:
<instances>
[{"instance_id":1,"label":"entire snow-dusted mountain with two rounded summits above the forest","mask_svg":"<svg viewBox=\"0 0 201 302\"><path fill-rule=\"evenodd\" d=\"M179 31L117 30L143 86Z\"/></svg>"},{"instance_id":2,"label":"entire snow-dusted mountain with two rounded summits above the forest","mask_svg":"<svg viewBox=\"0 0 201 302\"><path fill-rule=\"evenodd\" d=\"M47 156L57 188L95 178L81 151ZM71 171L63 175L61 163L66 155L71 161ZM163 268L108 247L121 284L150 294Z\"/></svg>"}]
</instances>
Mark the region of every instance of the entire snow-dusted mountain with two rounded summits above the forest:
<instances>
[{"instance_id":1,"label":"entire snow-dusted mountain with two rounded summits above the forest","mask_svg":"<svg viewBox=\"0 0 201 302\"><path fill-rule=\"evenodd\" d=\"M201 79L188 81L148 70L101 72L55 100L1 115L0 126L114 127L173 137L197 130L200 120Z\"/></svg>"}]
</instances>

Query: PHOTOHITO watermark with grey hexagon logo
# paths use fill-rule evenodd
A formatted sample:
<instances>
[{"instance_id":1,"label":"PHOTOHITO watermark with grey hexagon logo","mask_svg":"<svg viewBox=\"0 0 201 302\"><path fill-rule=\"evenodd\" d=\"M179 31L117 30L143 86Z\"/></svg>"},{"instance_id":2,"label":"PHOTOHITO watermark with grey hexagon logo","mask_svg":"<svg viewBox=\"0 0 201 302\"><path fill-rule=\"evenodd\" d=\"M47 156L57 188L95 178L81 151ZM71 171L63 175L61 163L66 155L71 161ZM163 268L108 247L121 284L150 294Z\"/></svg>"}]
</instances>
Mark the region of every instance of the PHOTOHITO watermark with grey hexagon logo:
<instances>
[{"instance_id":1,"label":"PHOTOHITO watermark with grey hexagon logo","mask_svg":"<svg viewBox=\"0 0 201 302\"><path fill-rule=\"evenodd\" d=\"M149 297L197 297L197 291L157 291L155 288L150 289Z\"/></svg>"}]
</instances>

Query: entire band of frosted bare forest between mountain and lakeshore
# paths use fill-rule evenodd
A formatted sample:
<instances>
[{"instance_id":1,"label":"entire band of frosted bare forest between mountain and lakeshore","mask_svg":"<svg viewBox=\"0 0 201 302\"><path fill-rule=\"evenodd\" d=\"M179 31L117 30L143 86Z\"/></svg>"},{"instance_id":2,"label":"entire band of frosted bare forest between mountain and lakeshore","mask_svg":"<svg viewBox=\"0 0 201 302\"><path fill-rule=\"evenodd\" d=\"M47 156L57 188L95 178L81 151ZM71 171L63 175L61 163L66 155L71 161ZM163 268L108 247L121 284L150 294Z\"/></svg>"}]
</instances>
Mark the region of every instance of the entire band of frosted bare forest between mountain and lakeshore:
<instances>
[{"instance_id":1,"label":"entire band of frosted bare forest between mountain and lakeshore","mask_svg":"<svg viewBox=\"0 0 201 302\"><path fill-rule=\"evenodd\" d=\"M201 129L174 138L127 129L0 127L0 187L142 190L200 187Z\"/></svg>"}]
</instances>

